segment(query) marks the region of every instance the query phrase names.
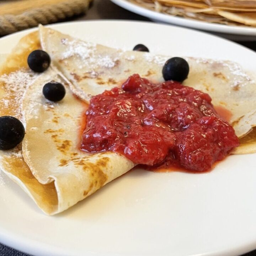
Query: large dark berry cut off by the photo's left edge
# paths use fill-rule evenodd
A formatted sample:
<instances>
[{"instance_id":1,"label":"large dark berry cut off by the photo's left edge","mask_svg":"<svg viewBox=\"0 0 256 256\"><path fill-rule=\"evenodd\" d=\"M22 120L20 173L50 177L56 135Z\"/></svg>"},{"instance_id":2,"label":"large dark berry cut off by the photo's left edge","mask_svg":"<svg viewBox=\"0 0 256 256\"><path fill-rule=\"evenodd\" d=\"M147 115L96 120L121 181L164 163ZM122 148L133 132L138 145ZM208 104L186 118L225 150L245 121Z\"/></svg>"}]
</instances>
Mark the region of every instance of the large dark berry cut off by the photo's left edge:
<instances>
[{"instance_id":1,"label":"large dark berry cut off by the photo's left edge","mask_svg":"<svg viewBox=\"0 0 256 256\"><path fill-rule=\"evenodd\" d=\"M25 129L19 119L12 116L0 117L0 150L15 148L24 136Z\"/></svg>"}]
</instances>

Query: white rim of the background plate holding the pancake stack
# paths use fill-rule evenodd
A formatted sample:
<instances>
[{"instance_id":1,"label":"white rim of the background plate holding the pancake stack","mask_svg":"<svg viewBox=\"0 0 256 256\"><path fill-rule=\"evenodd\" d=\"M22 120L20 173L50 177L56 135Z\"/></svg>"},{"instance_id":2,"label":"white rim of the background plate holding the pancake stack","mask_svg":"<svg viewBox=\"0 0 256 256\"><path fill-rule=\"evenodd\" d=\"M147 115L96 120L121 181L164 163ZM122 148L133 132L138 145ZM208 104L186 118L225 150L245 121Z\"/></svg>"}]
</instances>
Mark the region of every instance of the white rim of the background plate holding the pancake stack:
<instances>
[{"instance_id":1,"label":"white rim of the background plate holding the pancake stack","mask_svg":"<svg viewBox=\"0 0 256 256\"><path fill-rule=\"evenodd\" d=\"M255 41L256 40L256 28L246 26L230 26L217 23L209 23L204 21L197 21L190 18L183 18L172 16L168 14L162 14L156 11L146 9L142 6L133 4L129 0L111 0L115 4L135 12L142 16L148 17L154 21L161 21L178 26L196 28L199 30L218 33L218 35L225 38L237 41Z\"/></svg>"}]
</instances>

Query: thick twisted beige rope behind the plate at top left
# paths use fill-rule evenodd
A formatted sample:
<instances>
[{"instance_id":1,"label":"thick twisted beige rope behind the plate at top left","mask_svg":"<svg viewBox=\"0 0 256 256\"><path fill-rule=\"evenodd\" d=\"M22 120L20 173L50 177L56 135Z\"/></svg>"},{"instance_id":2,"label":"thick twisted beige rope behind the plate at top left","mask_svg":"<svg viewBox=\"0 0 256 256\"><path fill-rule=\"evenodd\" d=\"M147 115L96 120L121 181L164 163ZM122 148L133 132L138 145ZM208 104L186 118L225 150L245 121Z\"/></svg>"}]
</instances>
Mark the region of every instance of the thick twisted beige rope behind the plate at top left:
<instances>
[{"instance_id":1,"label":"thick twisted beige rope behind the plate at top left","mask_svg":"<svg viewBox=\"0 0 256 256\"><path fill-rule=\"evenodd\" d=\"M72 0L24 12L0 16L0 36L5 36L38 24L54 23L74 15L84 14L92 0Z\"/></svg>"}]
</instances>

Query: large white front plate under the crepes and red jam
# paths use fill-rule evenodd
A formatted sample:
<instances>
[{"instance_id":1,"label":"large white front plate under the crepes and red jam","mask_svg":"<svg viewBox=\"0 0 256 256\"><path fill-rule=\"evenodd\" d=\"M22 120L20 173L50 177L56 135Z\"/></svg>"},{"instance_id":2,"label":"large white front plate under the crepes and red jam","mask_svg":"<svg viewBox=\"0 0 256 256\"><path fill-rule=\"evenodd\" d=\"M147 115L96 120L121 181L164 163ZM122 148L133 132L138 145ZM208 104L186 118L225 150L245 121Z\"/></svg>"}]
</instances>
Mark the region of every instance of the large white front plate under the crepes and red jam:
<instances>
[{"instance_id":1,"label":"large white front plate under the crepes and red jam","mask_svg":"<svg viewBox=\"0 0 256 256\"><path fill-rule=\"evenodd\" d=\"M127 21L50 27L112 47L144 43L153 53L256 67L256 53L185 28ZM27 33L0 39L0 53ZM2 174L0 242L36 256L240 255L256 248L255 156L229 156L204 174L131 171L54 217Z\"/></svg>"}]
</instances>

